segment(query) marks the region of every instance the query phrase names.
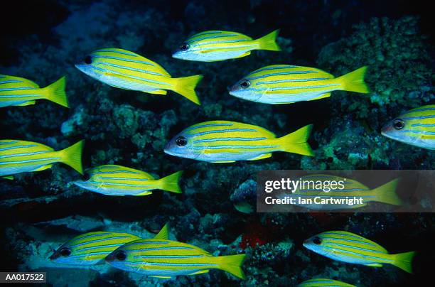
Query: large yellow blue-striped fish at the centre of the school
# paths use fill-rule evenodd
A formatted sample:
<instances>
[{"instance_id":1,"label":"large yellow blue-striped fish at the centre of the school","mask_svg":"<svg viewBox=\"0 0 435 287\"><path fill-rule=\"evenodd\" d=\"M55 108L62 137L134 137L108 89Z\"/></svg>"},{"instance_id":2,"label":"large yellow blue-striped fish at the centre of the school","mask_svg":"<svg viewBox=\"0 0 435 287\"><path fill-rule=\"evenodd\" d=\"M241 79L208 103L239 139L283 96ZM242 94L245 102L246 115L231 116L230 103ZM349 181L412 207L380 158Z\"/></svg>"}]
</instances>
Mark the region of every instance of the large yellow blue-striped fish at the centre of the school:
<instances>
[{"instance_id":1,"label":"large yellow blue-striped fish at the centre of the school","mask_svg":"<svg viewBox=\"0 0 435 287\"><path fill-rule=\"evenodd\" d=\"M277 138L272 131L236 121L205 121L194 124L168 141L164 152L171 156L211 163L257 161L274 151L313 156L306 142L312 125Z\"/></svg>"}]
</instances>

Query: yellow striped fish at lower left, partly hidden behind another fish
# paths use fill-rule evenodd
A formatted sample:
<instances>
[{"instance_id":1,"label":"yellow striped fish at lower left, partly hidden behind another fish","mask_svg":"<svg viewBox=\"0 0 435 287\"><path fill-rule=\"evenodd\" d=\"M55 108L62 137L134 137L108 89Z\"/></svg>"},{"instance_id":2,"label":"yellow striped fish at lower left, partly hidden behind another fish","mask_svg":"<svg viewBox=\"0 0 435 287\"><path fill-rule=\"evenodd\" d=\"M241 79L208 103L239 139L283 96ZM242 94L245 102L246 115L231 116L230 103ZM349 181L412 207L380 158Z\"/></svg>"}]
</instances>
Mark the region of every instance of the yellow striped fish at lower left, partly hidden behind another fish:
<instances>
[{"instance_id":1,"label":"yellow striped fish at lower left, partly hidden behind another fish","mask_svg":"<svg viewBox=\"0 0 435 287\"><path fill-rule=\"evenodd\" d=\"M168 239L168 224L165 224L155 239ZM88 232L62 244L49 259L59 264L95 265L104 263L104 258L122 245L141 239L133 234L119 232Z\"/></svg>"}]
</instances>

